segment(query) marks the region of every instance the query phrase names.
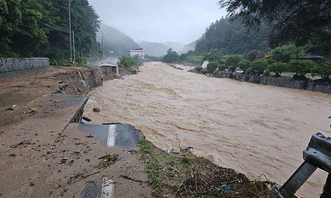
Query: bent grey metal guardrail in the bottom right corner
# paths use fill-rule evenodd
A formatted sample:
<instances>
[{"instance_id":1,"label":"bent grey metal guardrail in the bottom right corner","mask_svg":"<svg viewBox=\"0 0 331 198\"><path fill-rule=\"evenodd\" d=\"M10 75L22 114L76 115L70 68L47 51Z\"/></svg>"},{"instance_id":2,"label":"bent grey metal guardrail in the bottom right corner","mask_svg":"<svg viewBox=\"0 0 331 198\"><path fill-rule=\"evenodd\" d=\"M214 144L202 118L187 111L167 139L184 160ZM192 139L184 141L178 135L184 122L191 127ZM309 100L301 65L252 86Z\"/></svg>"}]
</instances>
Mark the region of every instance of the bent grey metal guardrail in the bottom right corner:
<instances>
[{"instance_id":1,"label":"bent grey metal guardrail in the bottom right corner","mask_svg":"<svg viewBox=\"0 0 331 198\"><path fill-rule=\"evenodd\" d=\"M321 197L331 197L331 138L326 138L321 133L314 134L308 147L303 151L304 162L293 175L279 189L274 186L274 191L279 198L293 197L303 183L320 168L329 173Z\"/></svg>"}]
</instances>

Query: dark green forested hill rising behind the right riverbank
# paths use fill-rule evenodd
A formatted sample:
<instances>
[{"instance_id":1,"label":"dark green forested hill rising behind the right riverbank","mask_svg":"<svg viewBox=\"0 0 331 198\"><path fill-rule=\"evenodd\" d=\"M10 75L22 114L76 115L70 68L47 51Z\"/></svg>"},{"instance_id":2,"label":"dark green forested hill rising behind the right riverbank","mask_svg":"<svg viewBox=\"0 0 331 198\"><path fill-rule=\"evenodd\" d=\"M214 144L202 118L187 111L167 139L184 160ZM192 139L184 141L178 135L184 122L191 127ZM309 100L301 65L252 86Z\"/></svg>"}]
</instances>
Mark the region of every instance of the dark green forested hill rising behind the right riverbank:
<instances>
[{"instance_id":1,"label":"dark green forested hill rising behind the right riverbank","mask_svg":"<svg viewBox=\"0 0 331 198\"><path fill-rule=\"evenodd\" d=\"M218 49L224 54L242 54L247 50L268 50L267 37L270 29L262 26L260 31L247 33L240 21L230 22L222 18L212 23L197 41L196 53Z\"/></svg>"}]
</instances>

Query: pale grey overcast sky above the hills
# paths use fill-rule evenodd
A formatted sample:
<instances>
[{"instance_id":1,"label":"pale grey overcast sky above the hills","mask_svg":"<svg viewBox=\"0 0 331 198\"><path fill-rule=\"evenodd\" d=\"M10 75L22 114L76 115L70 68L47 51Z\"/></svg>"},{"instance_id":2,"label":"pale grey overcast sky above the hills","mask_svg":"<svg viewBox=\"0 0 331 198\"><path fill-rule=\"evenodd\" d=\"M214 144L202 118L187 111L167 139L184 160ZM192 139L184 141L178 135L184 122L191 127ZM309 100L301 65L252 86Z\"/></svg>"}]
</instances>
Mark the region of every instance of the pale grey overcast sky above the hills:
<instances>
[{"instance_id":1,"label":"pale grey overcast sky above the hills","mask_svg":"<svg viewBox=\"0 0 331 198\"><path fill-rule=\"evenodd\" d=\"M106 25L136 42L178 41L200 38L206 27L226 16L217 0L89 0Z\"/></svg>"}]
</instances>

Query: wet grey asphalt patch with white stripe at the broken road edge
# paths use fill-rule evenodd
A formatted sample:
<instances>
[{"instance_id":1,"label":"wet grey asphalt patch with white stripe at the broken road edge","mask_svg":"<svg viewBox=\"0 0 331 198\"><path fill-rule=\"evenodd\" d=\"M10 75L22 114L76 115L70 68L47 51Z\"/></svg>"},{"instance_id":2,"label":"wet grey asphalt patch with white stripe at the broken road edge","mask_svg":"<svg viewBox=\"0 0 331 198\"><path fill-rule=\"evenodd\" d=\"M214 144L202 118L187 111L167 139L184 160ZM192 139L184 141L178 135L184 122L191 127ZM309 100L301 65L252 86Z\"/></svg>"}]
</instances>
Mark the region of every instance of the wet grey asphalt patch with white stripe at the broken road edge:
<instances>
[{"instance_id":1,"label":"wet grey asphalt patch with white stripe at the broken road edge","mask_svg":"<svg viewBox=\"0 0 331 198\"><path fill-rule=\"evenodd\" d=\"M92 125L80 124L78 131L86 134L92 134L95 139L100 140L102 144L108 147L132 148L137 145L141 132L131 125L119 123Z\"/></svg>"}]
</instances>

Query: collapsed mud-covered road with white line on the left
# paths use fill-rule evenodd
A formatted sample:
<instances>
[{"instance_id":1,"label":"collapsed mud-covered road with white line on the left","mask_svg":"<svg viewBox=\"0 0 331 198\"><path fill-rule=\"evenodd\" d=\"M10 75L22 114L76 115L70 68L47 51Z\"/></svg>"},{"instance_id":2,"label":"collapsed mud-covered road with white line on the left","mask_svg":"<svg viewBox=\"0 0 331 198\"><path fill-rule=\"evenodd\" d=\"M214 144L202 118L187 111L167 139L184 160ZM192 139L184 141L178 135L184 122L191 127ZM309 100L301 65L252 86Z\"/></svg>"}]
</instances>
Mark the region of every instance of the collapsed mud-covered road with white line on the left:
<instances>
[{"instance_id":1,"label":"collapsed mud-covered road with white line on the left","mask_svg":"<svg viewBox=\"0 0 331 198\"><path fill-rule=\"evenodd\" d=\"M151 197L148 185L128 179L148 180L132 155L140 132L79 124L91 88L116 77L102 71L53 67L0 78L1 197Z\"/></svg>"}]
</instances>

